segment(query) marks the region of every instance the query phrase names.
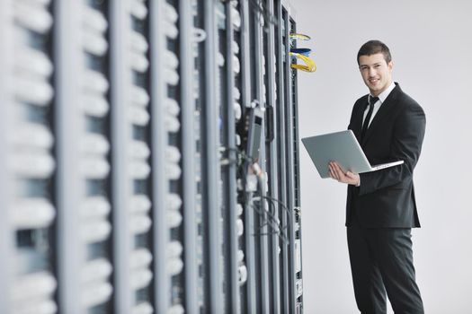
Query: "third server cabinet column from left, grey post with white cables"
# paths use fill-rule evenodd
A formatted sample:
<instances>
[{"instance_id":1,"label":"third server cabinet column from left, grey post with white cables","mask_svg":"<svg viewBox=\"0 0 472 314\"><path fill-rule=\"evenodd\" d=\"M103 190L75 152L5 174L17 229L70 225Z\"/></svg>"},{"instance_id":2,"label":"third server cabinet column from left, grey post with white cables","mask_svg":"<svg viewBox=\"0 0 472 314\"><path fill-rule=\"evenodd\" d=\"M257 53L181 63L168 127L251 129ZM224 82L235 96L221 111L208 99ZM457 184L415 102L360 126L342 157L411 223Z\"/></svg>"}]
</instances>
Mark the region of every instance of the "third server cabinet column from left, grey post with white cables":
<instances>
[{"instance_id":1,"label":"third server cabinet column from left, grey post with white cables","mask_svg":"<svg viewBox=\"0 0 472 314\"><path fill-rule=\"evenodd\" d=\"M152 208L147 1L112 2L111 141L115 311L152 313Z\"/></svg>"}]
</instances>

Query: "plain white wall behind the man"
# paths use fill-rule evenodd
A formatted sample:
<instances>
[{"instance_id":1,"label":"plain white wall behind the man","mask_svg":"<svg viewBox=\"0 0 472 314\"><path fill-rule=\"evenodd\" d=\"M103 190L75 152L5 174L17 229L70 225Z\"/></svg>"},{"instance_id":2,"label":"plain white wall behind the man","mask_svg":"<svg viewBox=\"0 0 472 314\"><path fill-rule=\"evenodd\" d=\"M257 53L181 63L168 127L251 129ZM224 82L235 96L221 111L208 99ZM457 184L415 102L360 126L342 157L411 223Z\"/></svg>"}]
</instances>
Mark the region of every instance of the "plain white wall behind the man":
<instances>
[{"instance_id":1,"label":"plain white wall behind the man","mask_svg":"<svg viewBox=\"0 0 472 314\"><path fill-rule=\"evenodd\" d=\"M290 0L316 73L299 74L301 136L346 128L367 88L357 69L369 39L390 48L393 77L426 112L415 191L417 281L428 314L472 311L472 2ZM300 147L302 147L300 145ZM301 148L305 312L357 313L345 239L345 186L319 179Z\"/></svg>"}]
</instances>

